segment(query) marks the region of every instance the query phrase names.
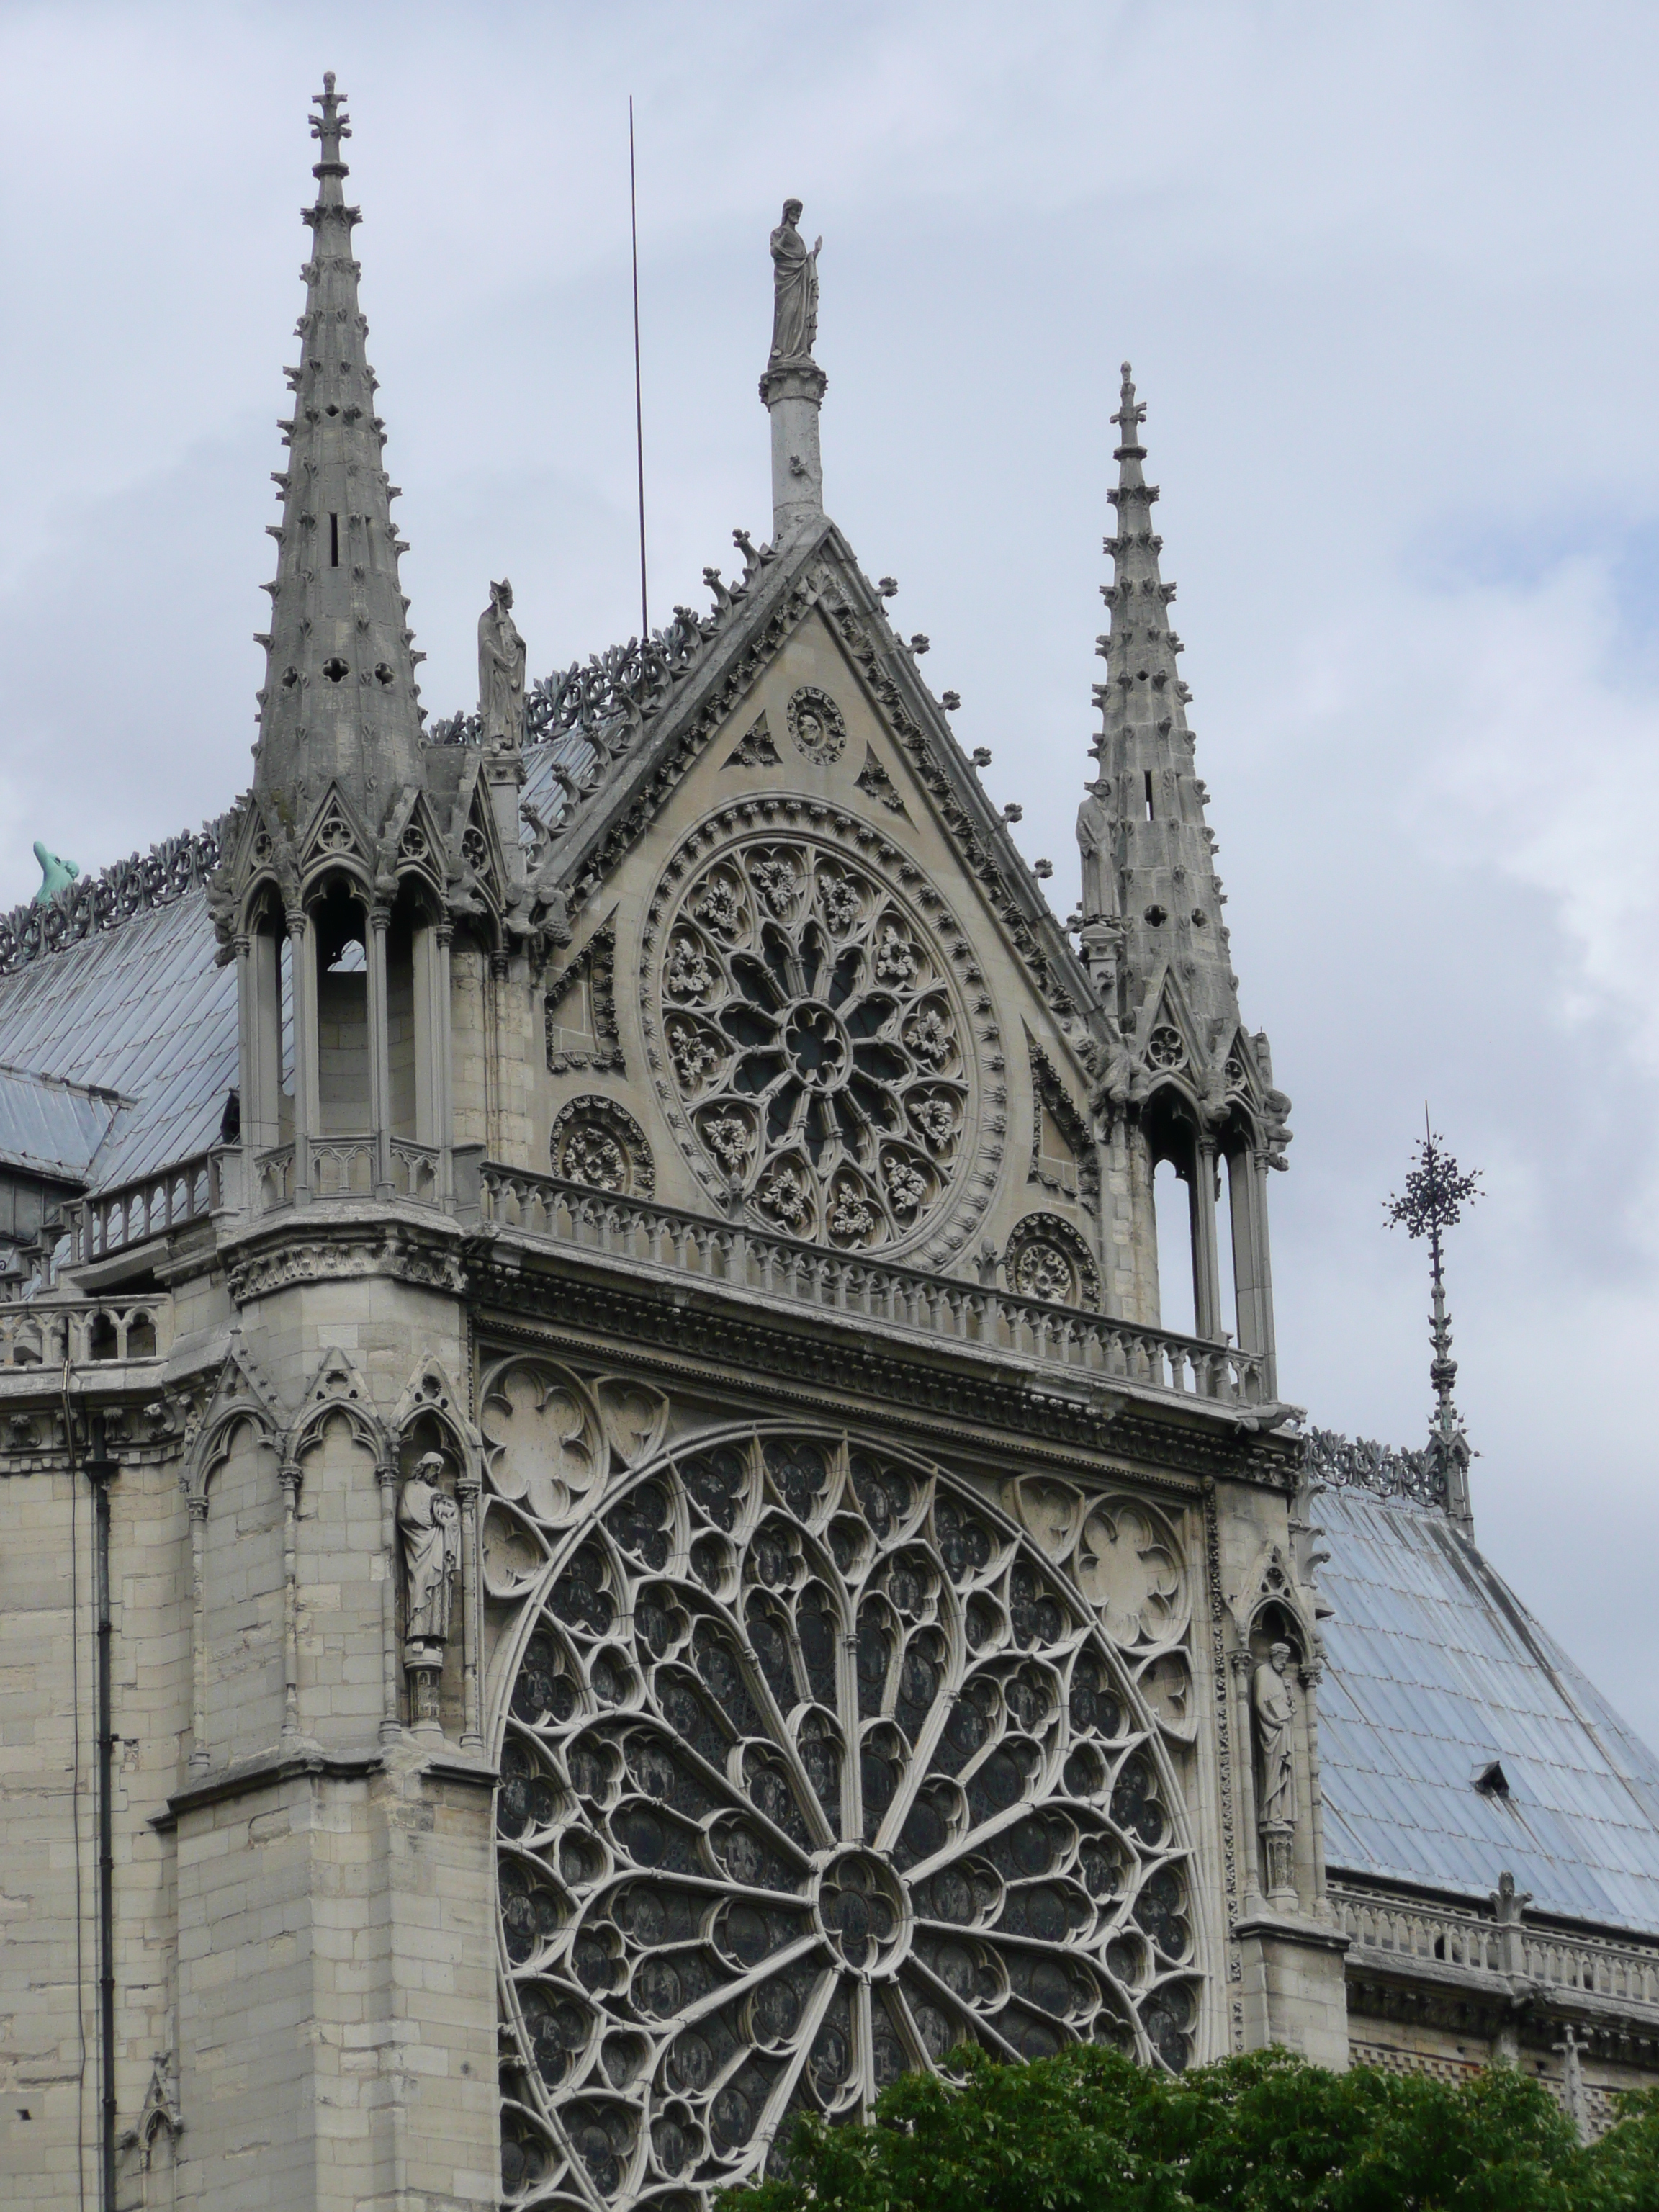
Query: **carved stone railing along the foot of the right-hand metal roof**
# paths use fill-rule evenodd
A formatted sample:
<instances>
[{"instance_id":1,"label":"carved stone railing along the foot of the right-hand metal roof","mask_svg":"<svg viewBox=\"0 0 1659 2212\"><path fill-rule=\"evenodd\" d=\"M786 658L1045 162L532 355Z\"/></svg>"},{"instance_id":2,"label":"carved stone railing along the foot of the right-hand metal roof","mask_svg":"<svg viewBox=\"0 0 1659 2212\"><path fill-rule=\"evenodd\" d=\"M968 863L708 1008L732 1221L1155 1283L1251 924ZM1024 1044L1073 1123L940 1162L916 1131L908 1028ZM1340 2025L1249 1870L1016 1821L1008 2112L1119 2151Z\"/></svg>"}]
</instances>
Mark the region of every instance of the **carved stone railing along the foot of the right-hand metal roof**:
<instances>
[{"instance_id":1,"label":"carved stone railing along the foot of the right-hand metal roof","mask_svg":"<svg viewBox=\"0 0 1659 2212\"><path fill-rule=\"evenodd\" d=\"M1380 1898L1340 1882L1329 1885L1332 1911L1352 1958L1467 1966L1506 1973L1540 1989L1608 1997L1615 2004L1659 2006L1659 1947L1610 1936L1568 1936L1535 1922L1500 1924L1475 1907L1442 1907Z\"/></svg>"}]
</instances>

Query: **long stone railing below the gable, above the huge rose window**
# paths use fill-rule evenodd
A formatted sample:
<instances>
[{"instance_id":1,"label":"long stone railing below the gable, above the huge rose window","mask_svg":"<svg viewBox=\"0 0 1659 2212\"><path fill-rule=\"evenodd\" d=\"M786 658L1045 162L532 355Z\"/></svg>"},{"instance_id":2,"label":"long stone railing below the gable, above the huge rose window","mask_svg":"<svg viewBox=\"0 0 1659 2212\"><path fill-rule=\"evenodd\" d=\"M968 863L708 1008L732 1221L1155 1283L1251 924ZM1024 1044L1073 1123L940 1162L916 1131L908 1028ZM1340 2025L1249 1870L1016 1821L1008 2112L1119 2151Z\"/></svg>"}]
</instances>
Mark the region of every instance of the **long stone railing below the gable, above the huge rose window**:
<instances>
[{"instance_id":1,"label":"long stone railing below the gable, above the huge rose window","mask_svg":"<svg viewBox=\"0 0 1659 2212\"><path fill-rule=\"evenodd\" d=\"M1013 1352L1104 1385L1241 1407L1261 1405L1267 1396L1261 1358L1234 1345L1141 1329L891 1261L827 1252L493 1161L482 1161L478 1183L482 1221L637 1270L759 1292L770 1303L874 1321L936 1343Z\"/></svg>"}]
</instances>

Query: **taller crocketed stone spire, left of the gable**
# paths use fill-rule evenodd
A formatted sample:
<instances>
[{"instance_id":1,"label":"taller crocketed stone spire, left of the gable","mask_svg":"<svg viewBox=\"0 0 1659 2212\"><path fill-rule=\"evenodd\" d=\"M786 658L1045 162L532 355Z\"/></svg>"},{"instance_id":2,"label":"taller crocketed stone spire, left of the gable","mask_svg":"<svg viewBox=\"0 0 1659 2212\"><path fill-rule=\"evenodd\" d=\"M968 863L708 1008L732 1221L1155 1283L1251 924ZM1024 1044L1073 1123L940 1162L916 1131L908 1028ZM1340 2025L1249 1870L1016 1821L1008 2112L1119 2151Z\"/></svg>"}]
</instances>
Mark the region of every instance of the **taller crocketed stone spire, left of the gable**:
<instances>
[{"instance_id":1,"label":"taller crocketed stone spire, left of the gable","mask_svg":"<svg viewBox=\"0 0 1659 2212\"><path fill-rule=\"evenodd\" d=\"M296 323L299 367L288 369L294 416L281 422L290 449L281 487L276 582L259 695L254 790L299 827L334 779L372 830L398 790L420 779L420 708L398 591L392 526L396 487L380 465L385 427L374 411L376 376L365 358L358 263L345 206L341 142L352 135L332 71L314 95L316 204L305 210L312 259L305 314Z\"/></svg>"}]
</instances>

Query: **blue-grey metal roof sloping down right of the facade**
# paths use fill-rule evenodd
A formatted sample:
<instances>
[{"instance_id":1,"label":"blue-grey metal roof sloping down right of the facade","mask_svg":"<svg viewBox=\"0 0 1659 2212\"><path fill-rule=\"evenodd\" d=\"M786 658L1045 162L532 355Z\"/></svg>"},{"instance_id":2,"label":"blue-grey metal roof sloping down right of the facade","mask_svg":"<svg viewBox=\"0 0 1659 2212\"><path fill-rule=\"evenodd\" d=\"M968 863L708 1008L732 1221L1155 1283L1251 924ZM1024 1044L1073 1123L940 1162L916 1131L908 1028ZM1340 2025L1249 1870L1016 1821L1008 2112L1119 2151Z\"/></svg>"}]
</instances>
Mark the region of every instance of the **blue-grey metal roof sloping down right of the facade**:
<instances>
[{"instance_id":1,"label":"blue-grey metal roof sloping down right of the facade","mask_svg":"<svg viewBox=\"0 0 1659 2212\"><path fill-rule=\"evenodd\" d=\"M1659 1761L1442 1513L1318 1498L1329 1672L1325 1858L1484 1900L1659 1931ZM1506 1796L1475 1772L1498 1759Z\"/></svg>"}]
</instances>

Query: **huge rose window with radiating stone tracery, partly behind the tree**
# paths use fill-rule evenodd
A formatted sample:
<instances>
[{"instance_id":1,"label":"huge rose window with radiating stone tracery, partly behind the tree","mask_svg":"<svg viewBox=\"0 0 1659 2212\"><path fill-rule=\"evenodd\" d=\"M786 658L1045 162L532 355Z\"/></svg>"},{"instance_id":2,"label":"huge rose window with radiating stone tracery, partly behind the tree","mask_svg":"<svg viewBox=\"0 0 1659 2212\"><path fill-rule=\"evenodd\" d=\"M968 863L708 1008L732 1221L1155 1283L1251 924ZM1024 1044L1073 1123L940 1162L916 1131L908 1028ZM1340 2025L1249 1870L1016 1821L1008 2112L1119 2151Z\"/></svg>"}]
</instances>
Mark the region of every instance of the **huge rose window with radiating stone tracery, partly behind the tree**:
<instances>
[{"instance_id":1,"label":"huge rose window with radiating stone tracery, partly behind the tree","mask_svg":"<svg viewBox=\"0 0 1659 2212\"><path fill-rule=\"evenodd\" d=\"M1009 1522L774 1436L551 1544L500 1754L507 2203L708 2201L962 2042L1188 2062L1159 1734Z\"/></svg>"}]
</instances>

